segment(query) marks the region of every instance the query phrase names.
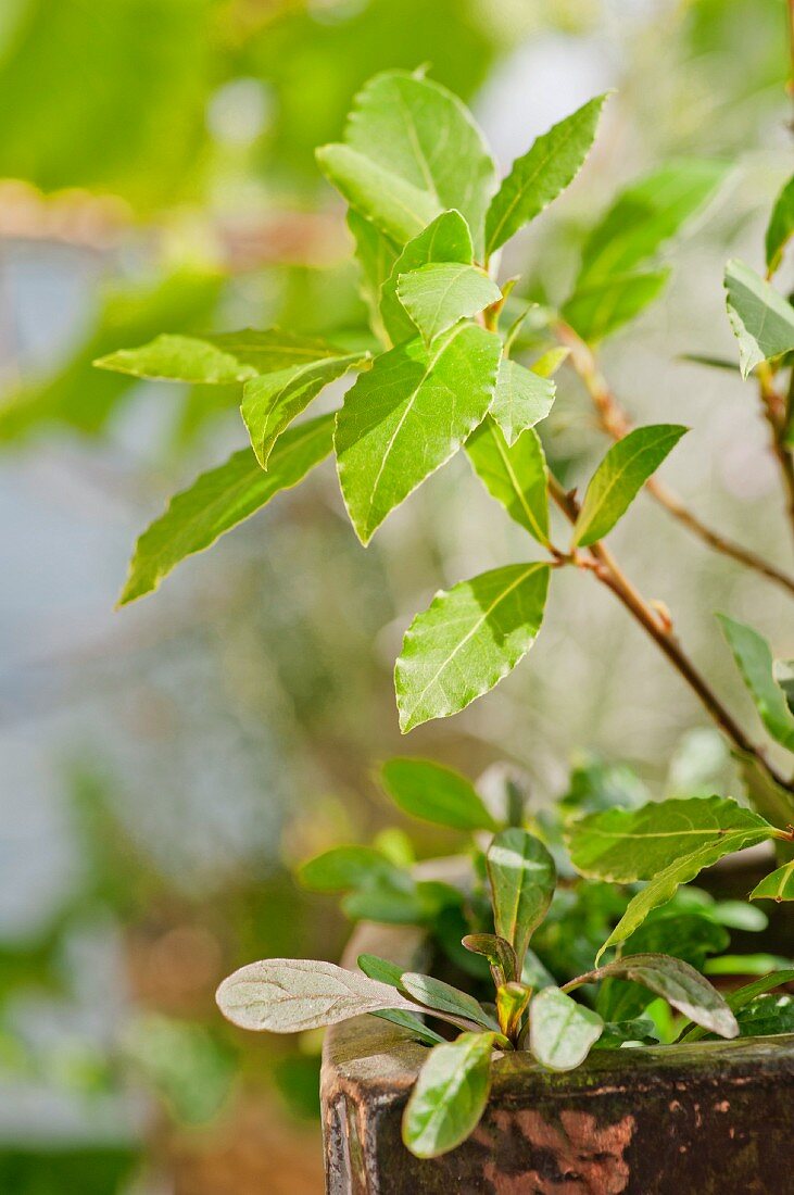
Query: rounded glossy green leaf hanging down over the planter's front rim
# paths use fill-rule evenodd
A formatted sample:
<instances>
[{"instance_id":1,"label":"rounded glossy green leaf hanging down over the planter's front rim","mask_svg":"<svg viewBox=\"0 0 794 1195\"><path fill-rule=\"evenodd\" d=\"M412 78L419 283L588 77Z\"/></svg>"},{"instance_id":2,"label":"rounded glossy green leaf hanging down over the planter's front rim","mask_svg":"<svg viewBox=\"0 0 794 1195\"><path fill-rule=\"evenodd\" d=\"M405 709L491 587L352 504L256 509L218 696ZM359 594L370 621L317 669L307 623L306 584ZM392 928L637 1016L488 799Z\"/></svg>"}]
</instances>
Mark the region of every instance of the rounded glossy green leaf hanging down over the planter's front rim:
<instances>
[{"instance_id":1,"label":"rounded glossy green leaf hanging down over the planter's front rim","mask_svg":"<svg viewBox=\"0 0 794 1195\"><path fill-rule=\"evenodd\" d=\"M417 1158L448 1153L476 1128L491 1090L493 1034L461 1034L424 1064L404 1117L402 1140Z\"/></svg>"}]
</instances>

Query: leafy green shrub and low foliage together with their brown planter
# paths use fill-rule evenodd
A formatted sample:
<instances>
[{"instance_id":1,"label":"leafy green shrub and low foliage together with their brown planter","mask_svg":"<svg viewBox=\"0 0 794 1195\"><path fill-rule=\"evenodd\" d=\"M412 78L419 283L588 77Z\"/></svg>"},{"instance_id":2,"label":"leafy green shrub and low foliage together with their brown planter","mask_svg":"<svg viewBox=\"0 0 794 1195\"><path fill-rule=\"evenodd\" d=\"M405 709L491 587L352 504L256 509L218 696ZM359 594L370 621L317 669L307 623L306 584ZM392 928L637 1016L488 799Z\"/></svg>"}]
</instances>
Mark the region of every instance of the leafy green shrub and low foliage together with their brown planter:
<instances>
[{"instance_id":1,"label":"leafy green shrub and low foliage together with their brown planter","mask_svg":"<svg viewBox=\"0 0 794 1195\"><path fill-rule=\"evenodd\" d=\"M413 619L395 668L402 731L456 713L515 668L541 629L553 574L568 568L605 586L651 636L727 740L745 782L751 808L712 796L578 810L583 815L565 823L541 825L523 808L494 814L467 780L429 761L389 765L386 784L402 808L490 841L473 845L470 865L454 882L418 878L377 851L332 852L309 877L358 893L349 901L355 915L417 923L419 933L400 930L390 957L386 948L361 951L359 972L271 960L242 968L218 993L228 1016L256 1029L294 1031L359 1013L378 1018L374 1028L352 1022L328 1037L332 1190L431 1191L451 1181L494 1191L708 1190L726 1159L739 1168L743 1189L780 1191L787 1181L769 1159L787 1130L778 1107L781 1085L793 1081L794 1053L783 1037L747 1043L741 1022L771 1032L789 1028L787 998L769 993L792 975L759 976L724 998L685 957L693 948L681 918L660 911L678 908L671 902L684 900L681 885L704 868L767 840L780 865L752 896L790 899L794 780L695 667L666 607L642 595L604 543L647 488L710 550L794 593L794 580L777 563L706 526L655 479L687 429L632 427L596 357L605 337L660 294L667 271L657 265L659 252L710 202L725 164L665 165L618 195L587 237L573 292L556 308L518 300L517 280L499 281L501 246L578 173L605 100L590 100L538 137L498 182L455 96L421 72L376 76L357 97L344 141L318 151L320 168L350 207L371 345L331 345L277 329L164 335L98 362L136 376L238 382L251 439L250 448L177 495L143 533L122 605L154 590L181 559L298 484L332 451L350 520L367 544L462 449L543 554L462 581ZM730 262L725 284L739 369L757 385L794 527L794 310L773 284L793 232L789 182L769 221L765 276ZM615 441L581 500L549 467L536 431L565 361ZM336 412L295 422L352 370L356 382ZM571 526L567 541L552 526L549 498ZM751 626L727 615L721 623L764 727L794 750L788 666L775 663ZM587 902L603 888L613 900L595 957L565 978L535 966L541 952L529 954L530 938L542 939L554 909L550 848L565 877L559 891L584 885L577 899ZM555 924L565 938L565 918ZM467 950L486 960L490 992L461 991L417 970L420 939L432 930L430 939L441 940L439 926L448 944L450 927L457 933L458 964ZM641 949L644 940L664 949ZM564 951L560 967L570 963ZM476 988L482 966L468 972ZM660 1048L648 1044L659 1032L636 1024L651 1000L640 991L663 997L689 1022L676 1023ZM615 1009L620 1016L605 1015ZM436 1024L419 1015L451 1018L462 1036L438 1041ZM697 1042L701 1030L728 1041ZM604 1053L598 1041L640 1044ZM553 1074L570 1068L565 1080ZM399 1145L401 1117L407 1151Z\"/></svg>"}]
</instances>

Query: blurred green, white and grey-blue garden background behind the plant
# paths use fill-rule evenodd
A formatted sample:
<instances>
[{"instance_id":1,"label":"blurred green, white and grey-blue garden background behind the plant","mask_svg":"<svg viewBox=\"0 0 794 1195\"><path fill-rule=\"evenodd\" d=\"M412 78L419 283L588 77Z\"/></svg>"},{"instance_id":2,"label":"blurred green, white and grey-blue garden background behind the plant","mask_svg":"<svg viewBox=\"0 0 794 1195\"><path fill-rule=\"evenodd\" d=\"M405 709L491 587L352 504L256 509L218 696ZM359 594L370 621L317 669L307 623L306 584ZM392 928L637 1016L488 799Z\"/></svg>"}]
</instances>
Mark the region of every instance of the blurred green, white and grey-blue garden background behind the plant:
<instances>
[{"instance_id":1,"label":"blurred green, white and grey-blue garden background behind the plant","mask_svg":"<svg viewBox=\"0 0 794 1195\"><path fill-rule=\"evenodd\" d=\"M635 418L693 427L669 476L698 513L790 563L749 388L678 360L732 354L722 263L758 266L790 170L784 0L5 0L2 1191L320 1191L319 1041L244 1037L213 992L256 957L338 954L344 924L290 866L389 820L374 761L408 750L476 774L506 759L542 804L581 753L629 760L659 791L703 725L609 595L566 570L531 661L400 741L389 674L410 615L523 551L457 461L368 551L326 467L156 598L112 611L135 535L242 437L232 391L90 362L159 331L361 336L343 210L313 148L370 74L423 63L472 103L503 170L617 88L581 178L505 263L552 299L620 185L675 154L735 160L666 298L605 366ZM574 473L603 451L565 372L549 428ZM786 599L646 501L615 541L750 718L710 613L794 655ZM425 853L454 845L421 838Z\"/></svg>"}]
</instances>

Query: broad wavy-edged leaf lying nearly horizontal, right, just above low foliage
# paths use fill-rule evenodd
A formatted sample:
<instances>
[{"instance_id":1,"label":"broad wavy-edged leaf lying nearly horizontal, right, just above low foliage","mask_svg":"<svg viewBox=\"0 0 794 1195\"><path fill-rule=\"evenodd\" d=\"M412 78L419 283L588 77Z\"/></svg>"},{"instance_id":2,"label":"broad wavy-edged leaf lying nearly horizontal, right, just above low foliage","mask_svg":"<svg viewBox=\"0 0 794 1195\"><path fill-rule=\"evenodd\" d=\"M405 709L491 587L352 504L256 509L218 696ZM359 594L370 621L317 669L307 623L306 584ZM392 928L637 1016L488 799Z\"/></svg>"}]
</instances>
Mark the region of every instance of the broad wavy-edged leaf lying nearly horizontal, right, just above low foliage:
<instances>
[{"instance_id":1,"label":"broad wavy-edged leaf lying nearly horizontal, right, just above low foliage","mask_svg":"<svg viewBox=\"0 0 794 1195\"><path fill-rule=\"evenodd\" d=\"M566 836L581 875L629 883L652 880L695 851L715 848L720 858L740 850L738 844L746 835L763 842L771 829L758 814L730 798L690 797L589 814L570 823Z\"/></svg>"}]
</instances>

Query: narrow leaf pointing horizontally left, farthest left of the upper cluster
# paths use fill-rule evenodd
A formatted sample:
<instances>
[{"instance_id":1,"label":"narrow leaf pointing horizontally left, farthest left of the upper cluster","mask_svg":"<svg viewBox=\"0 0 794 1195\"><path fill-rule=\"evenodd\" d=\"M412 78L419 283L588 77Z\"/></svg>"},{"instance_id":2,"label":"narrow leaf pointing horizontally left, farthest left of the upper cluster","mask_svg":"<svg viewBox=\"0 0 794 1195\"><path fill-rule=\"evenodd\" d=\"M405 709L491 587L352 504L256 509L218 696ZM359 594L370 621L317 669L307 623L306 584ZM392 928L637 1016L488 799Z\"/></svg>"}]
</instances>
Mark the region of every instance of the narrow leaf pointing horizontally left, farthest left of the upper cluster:
<instances>
[{"instance_id":1,"label":"narrow leaf pointing horizontally left, farthest left of the upper cluster","mask_svg":"<svg viewBox=\"0 0 794 1195\"><path fill-rule=\"evenodd\" d=\"M156 336L137 349L99 357L94 364L134 378L223 386L339 356L339 349L325 341L294 336L278 327L265 332L245 327L217 336Z\"/></svg>"}]
</instances>

